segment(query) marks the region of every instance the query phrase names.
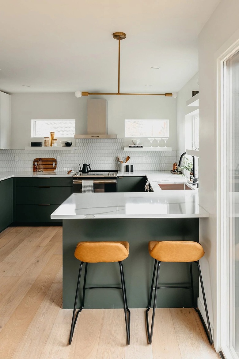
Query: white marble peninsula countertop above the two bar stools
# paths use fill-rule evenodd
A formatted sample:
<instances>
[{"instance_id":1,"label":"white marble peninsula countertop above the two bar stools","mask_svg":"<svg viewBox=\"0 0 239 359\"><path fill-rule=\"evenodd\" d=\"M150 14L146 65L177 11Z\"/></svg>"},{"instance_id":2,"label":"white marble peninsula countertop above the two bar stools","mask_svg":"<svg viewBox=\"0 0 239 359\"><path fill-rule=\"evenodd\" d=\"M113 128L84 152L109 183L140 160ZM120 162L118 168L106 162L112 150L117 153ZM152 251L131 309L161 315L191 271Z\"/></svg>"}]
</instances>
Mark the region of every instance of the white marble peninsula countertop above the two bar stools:
<instances>
[{"instance_id":1,"label":"white marble peninsula countertop above the two bar stools","mask_svg":"<svg viewBox=\"0 0 239 359\"><path fill-rule=\"evenodd\" d=\"M195 218L209 217L198 204L197 191L73 193L51 215L77 218Z\"/></svg>"}]
</instances>

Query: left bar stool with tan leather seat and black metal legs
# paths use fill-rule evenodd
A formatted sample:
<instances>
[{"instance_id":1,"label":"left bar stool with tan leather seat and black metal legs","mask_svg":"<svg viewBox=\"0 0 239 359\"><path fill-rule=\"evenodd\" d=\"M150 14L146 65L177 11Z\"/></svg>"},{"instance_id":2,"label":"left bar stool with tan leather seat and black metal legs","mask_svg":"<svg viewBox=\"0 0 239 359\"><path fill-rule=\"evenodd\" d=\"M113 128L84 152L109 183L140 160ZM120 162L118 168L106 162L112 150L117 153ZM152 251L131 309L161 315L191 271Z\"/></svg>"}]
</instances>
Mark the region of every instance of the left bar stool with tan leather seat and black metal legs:
<instances>
[{"instance_id":1,"label":"left bar stool with tan leather seat and black metal legs","mask_svg":"<svg viewBox=\"0 0 239 359\"><path fill-rule=\"evenodd\" d=\"M125 325L126 325L126 335L127 343L130 343L130 311L126 299L126 290L125 290L125 281L124 281L124 270L122 261L129 255L129 243L128 242L79 242L76 246L75 257L81 261L79 275L77 280L76 287L76 297L75 304L73 309L73 316L71 322L71 332L69 344L71 344L73 332L75 329L76 321L78 314L82 311L85 304L85 290L86 289L95 289L95 288L114 288L122 289L123 293L123 302L124 302L124 316L125 316ZM119 262L120 267L120 278L121 278L121 287L114 286L97 286L97 287L88 287L86 288L86 275L87 275L87 265L88 263L102 263L102 262ZM82 293L82 303L80 309L76 313L76 304L80 287L81 271L82 266L85 263L85 275L83 282L83 293ZM128 312L128 315L127 315ZM75 316L76 314L76 316Z\"/></svg>"}]
</instances>

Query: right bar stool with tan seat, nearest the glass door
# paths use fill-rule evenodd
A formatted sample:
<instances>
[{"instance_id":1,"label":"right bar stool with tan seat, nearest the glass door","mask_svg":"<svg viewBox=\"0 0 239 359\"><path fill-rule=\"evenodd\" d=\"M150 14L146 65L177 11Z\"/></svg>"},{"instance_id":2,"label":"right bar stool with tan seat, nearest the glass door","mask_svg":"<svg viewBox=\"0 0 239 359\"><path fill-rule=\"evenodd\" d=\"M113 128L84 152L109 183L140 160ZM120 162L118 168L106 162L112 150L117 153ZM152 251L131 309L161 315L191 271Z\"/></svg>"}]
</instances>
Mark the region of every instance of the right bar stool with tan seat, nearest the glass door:
<instances>
[{"instance_id":1,"label":"right bar stool with tan seat, nearest the glass door","mask_svg":"<svg viewBox=\"0 0 239 359\"><path fill-rule=\"evenodd\" d=\"M182 289L191 289L192 293L192 304L195 311L199 314L201 319L202 325L204 326L207 338L212 344L212 334L211 334L211 327L209 322L209 315L207 311L207 303L206 297L204 292L204 286L202 282L202 274L199 265L199 260L204 256L204 250L201 244L197 242L191 241L150 241L149 242L149 254L151 257L155 259L154 262L154 269L153 269L153 278L152 278L152 285L150 290L150 297L149 297L149 304L146 310L146 323L147 323L147 334L148 334L148 343L152 343L153 339L153 325L154 325L154 316L155 316L155 309L156 309L156 300L157 300L157 290L160 288L182 288ZM159 267L161 262L189 262L190 265L190 278L191 278L191 287L183 287L183 286L162 286L158 287L158 278L159 278ZM192 278L192 262L195 262L197 265L197 269L199 271L199 278L202 288L202 296L204 300L206 318L207 318L207 326L202 318L202 315L198 308L194 306L194 293L193 293L193 278ZM155 272L157 267L157 275L156 275L156 284L154 287L154 278ZM153 314L152 314L152 323L151 323L151 332L149 330L149 318L148 318L148 311L151 307L152 302L152 294L154 292L154 302L153 302Z\"/></svg>"}]
</instances>

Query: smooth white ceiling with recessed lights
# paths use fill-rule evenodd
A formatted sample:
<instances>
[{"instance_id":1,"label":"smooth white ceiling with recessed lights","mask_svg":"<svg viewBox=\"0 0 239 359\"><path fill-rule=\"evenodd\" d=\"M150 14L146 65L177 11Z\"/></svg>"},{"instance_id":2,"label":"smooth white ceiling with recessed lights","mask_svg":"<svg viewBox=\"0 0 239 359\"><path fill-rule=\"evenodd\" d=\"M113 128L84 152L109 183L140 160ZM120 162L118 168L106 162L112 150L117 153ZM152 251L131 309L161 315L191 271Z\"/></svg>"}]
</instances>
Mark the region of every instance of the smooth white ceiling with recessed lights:
<instances>
[{"instance_id":1,"label":"smooth white ceiling with recessed lights","mask_svg":"<svg viewBox=\"0 0 239 359\"><path fill-rule=\"evenodd\" d=\"M0 90L117 92L112 33L122 31L120 91L177 92L198 70L197 36L219 2L2 1Z\"/></svg>"}]
</instances>

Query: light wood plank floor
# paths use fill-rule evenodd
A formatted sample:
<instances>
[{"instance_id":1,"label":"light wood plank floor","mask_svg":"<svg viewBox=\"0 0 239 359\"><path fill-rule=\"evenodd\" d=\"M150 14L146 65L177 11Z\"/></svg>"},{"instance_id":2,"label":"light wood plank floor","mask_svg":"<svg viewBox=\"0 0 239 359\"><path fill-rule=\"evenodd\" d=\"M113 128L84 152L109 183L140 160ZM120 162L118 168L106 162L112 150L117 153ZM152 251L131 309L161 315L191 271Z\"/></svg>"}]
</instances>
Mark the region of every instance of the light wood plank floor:
<instances>
[{"instance_id":1,"label":"light wood plank floor","mask_svg":"<svg viewBox=\"0 0 239 359\"><path fill-rule=\"evenodd\" d=\"M126 288L127 289L127 288ZM0 233L0 359L214 359L192 309L157 309L148 345L144 309L83 310L68 345L72 310L62 307L62 228Z\"/></svg>"}]
</instances>

